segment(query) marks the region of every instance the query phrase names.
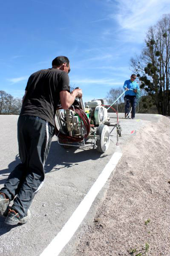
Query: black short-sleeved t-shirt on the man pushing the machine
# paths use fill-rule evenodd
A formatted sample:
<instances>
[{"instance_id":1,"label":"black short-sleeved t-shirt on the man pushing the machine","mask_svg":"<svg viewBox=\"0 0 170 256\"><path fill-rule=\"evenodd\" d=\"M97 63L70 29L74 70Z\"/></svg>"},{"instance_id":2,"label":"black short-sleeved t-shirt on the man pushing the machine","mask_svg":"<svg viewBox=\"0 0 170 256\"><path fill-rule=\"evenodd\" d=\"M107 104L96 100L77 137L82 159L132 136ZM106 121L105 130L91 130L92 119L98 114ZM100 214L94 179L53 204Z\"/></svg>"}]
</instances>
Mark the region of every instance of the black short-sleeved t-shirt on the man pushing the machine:
<instances>
[{"instance_id":1,"label":"black short-sleeved t-shirt on the man pushing the machine","mask_svg":"<svg viewBox=\"0 0 170 256\"><path fill-rule=\"evenodd\" d=\"M20 115L38 116L55 126L60 92L70 92L68 74L53 68L37 71L29 77L25 90L27 93Z\"/></svg>"}]
</instances>

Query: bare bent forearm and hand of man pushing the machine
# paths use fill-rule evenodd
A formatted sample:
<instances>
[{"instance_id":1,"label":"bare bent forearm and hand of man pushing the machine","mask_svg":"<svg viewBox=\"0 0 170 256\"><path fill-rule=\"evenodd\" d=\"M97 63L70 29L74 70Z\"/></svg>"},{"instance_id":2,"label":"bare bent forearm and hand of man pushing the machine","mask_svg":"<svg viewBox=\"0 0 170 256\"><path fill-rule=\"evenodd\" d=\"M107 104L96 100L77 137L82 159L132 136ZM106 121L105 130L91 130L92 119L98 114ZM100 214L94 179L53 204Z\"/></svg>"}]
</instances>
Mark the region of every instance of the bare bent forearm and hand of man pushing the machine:
<instances>
[{"instance_id":1,"label":"bare bent forearm and hand of man pushing the machine","mask_svg":"<svg viewBox=\"0 0 170 256\"><path fill-rule=\"evenodd\" d=\"M73 104L76 97L78 98L82 97L81 89L75 89L72 91L72 93L69 93L67 90L61 91L60 92L61 107L63 109L68 109Z\"/></svg>"}]
</instances>

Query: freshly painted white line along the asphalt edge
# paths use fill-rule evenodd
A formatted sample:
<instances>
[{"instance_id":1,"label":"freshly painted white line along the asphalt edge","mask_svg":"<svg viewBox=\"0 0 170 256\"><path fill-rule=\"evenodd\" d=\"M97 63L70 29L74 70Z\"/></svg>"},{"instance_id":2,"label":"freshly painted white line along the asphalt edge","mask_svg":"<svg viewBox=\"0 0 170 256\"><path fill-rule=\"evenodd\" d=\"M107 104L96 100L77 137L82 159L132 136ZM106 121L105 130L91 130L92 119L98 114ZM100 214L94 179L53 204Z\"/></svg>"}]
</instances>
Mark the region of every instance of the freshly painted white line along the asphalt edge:
<instances>
[{"instance_id":1,"label":"freshly painted white line along the asphalt edge","mask_svg":"<svg viewBox=\"0 0 170 256\"><path fill-rule=\"evenodd\" d=\"M73 212L72 216L62 228L62 230L51 241L51 243L40 254L40 256L58 256L63 247L69 242L75 231L78 229L79 225L89 211L93 201L95 200L95 197L98 195L98 192L106 183L113 169L115 169L115 166L117 165L121 156L122 154L118 152L115 152L112 155L111 159L104 167L103 171L101 172L98 179L95 181L87 195L84 197L83 201L81 201L75 212Z\"/></svg>"}]
</instances>

